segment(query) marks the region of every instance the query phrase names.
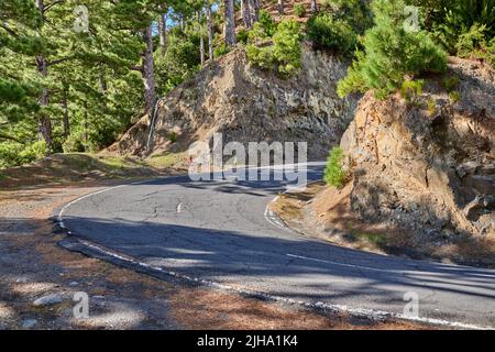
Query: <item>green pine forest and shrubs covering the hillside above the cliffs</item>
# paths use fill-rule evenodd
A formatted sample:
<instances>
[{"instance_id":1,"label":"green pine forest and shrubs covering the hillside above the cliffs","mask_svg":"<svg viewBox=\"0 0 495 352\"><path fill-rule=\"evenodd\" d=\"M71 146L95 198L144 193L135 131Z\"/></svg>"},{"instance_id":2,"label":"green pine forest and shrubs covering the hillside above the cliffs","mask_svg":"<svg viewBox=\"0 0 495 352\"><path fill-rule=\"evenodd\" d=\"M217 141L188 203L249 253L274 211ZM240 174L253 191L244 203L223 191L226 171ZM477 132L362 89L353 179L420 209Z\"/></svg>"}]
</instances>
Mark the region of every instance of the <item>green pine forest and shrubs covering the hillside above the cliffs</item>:
<instances>
[{"instance_id":1,"label":"green pine forest and shrubs covering the hillside above the cliffs","mask_svg":"<svg viewBox=\"0 0 495 352\"><path fill-rule=\"evenodd\" d=\"M160 97L234 46L287 79L300 72L300 42L308 38L354 59L341 96L372 89L381 98L406 79L441 74L447 55L494 61L493 0L78 6L0 4L0 167L109 146Z\"/></svg>"}]
</instances>

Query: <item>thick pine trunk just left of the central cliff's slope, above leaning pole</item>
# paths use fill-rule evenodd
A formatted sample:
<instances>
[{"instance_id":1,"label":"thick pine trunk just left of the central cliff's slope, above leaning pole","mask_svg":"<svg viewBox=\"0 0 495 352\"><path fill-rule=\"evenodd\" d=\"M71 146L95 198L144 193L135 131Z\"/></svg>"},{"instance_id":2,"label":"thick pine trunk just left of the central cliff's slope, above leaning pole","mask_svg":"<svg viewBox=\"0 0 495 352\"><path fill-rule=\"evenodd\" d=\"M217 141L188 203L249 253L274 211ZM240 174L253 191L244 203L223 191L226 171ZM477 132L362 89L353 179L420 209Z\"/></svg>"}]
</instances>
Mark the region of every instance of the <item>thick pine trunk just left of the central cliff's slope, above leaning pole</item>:
<instances>
[{"instance_id":1,"label":"thick pine trunk just left of the central cliff's slope, above leaning pole","mask_svg":"<svg viewBox=\"0 0 495 352\"><path fill-rule=\"evenodd\" d=\"M156 87L155 87L155 63L153 58L153 32L151 24L143 31L143 41L146 45L146 48L142 54L144 109L146 110L146 112L152 112L156 102Z\"/></svg>"}]
</instances>

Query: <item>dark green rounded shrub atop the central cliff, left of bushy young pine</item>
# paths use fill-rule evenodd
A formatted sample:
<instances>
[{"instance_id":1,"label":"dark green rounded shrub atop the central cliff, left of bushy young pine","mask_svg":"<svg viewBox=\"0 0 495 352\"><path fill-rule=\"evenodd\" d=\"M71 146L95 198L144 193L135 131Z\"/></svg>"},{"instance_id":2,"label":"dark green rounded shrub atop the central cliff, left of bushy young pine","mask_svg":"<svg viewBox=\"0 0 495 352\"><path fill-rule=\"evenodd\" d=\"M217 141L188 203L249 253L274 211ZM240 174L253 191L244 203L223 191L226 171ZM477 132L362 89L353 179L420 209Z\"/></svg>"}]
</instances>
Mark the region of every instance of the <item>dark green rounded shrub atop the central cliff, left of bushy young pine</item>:
<instances>
[{"instance_id":1,"label":"dark green rounded shrub atop the central cliff, left of bushy young pine","mask_svg":"<svg viewBox=\"0 0 495 352\"><path fill-rule=\"evenodd\" d=\"M318 46L337 51L345 56L352 55L358 45L358 34L352 26L329 13L311 16L308 21L307 33Z\"/></svg>"}]
</instances>

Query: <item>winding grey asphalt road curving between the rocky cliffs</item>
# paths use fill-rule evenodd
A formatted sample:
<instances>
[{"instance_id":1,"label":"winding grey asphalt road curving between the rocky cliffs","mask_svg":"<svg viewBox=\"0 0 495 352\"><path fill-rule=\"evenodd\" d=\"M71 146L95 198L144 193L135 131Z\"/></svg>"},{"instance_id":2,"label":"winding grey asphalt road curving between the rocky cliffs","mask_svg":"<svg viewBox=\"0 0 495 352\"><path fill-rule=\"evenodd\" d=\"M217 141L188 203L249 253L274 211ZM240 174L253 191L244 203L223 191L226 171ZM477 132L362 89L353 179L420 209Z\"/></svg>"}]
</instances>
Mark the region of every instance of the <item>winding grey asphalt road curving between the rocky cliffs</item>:
<instances>
[{"instance_id":1,"label":"winding grey asphalt road curving between the rocky cliffs","mask_svg":"<svg viewBox=\"0 0 495 352\"><path fill-rule=\"evenodd\" d=\"M308 165L309 180L322 166ZM165 271L305 302L419 315L495 327L495 271L342 249L268 222L280 182L167 177L108 189L66 206L61 219L86 240Z\"/></svg>"}]
</instances>

